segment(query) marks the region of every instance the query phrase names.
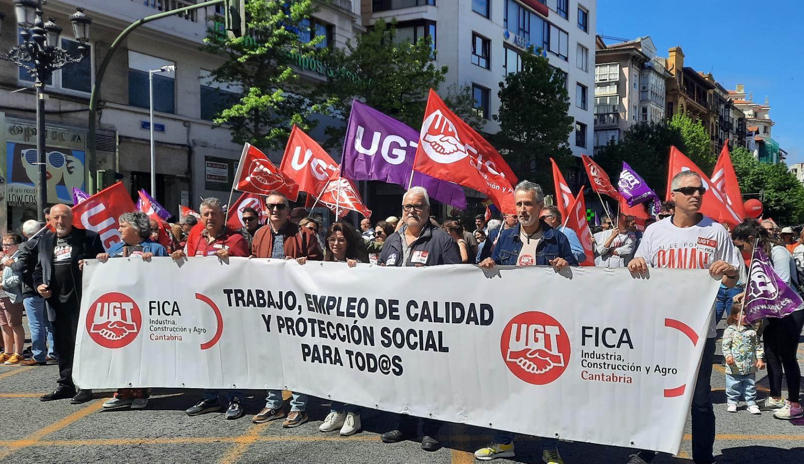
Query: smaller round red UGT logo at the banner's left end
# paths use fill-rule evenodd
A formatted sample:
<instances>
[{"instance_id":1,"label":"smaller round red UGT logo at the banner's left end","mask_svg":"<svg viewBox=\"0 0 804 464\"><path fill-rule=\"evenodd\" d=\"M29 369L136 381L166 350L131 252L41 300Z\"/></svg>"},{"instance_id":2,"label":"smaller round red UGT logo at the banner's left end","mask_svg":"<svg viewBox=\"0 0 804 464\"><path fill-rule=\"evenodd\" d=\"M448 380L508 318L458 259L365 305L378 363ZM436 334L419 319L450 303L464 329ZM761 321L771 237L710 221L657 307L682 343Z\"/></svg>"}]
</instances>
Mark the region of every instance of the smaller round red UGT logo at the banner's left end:
<instances>
[{"instance_id":1,"label":"smaller round red UGT logo at the banner's left end","mask_svg":"<svg viewBox=\"0 0 804 464\"><path fill-rule=\"evenodd\" d=\"M140 308L122 293L102 295L89 307L87 332L104 348L125 347L137 338L141 328Z\"/></svg>"}]
</instances>

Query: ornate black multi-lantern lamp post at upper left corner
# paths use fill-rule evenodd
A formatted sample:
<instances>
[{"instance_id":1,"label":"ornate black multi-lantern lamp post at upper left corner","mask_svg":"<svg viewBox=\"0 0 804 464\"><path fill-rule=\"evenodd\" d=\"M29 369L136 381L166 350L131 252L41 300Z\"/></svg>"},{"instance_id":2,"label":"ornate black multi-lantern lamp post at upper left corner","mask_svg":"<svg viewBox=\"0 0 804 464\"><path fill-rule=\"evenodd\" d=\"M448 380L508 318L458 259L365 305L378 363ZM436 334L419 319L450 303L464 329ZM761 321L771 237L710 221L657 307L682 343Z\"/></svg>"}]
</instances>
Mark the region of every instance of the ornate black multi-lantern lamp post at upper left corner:
<instances>
[{"instance_id":1,"label":"ornate black multi-lantern lamp post at upper left corner","mask_svg":"<svg viewBox=\"0 0 804 464\"><path fill-rule=\"evenodd\" d=\"M36 154L39 182L35 182L36 201L38 206L37 218L44 222L44 208L47 205L47 168L45 164L45 94L44 86L53 75L53 71L61 69L70 63L78 63L87 55L87 42L89 40L89 25L92 18L84 14L83 8L77 8L75 14L70 16L73 35L78 41L78 56L73 56L59 47L61 42L61 26L55 23L54 18L43 22L42 0L14 0L14 12L17 16L17 26L22 29L20 36L23 43L6 53L0 53L0 59L5 59L22 67L35 79L36 89ZM5 15L0 13L0 21Z\"/></svg>"}]
</instances>

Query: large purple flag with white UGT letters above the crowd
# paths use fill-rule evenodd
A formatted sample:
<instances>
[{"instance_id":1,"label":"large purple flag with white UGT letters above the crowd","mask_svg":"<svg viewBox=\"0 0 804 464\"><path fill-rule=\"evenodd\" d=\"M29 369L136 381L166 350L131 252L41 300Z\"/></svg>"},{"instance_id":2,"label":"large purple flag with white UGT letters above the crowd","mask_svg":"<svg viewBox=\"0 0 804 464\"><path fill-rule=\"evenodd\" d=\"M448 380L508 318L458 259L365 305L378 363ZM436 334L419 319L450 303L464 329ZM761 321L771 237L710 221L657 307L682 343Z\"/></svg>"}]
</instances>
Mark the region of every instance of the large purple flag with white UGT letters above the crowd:
<instances>
[{"instance_id":1,"label":"large purple flag with white UGT letters above the crowd","mask_svg":"<svg viewBox=\"0 0 804 464\"><path fill-rule=\"evenodd\" d=\"M418 144L419 131L355 100L343 141L343 177L407 188ZM413 172L411 185L425 187L430 197L442 203L466 209L466 195L460 185L418 171Z\"/></svg>"}]
</instances>

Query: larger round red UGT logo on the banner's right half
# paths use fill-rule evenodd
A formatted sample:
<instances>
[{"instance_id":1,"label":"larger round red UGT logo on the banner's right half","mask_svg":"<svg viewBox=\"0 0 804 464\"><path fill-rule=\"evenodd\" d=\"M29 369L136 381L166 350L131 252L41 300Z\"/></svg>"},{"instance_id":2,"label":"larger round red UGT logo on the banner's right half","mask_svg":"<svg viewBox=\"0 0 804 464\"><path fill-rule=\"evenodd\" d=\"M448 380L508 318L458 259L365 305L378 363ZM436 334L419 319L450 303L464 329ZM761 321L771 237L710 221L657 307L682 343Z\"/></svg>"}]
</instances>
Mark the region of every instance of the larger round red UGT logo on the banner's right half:
<instances>
[{"instance_id":1,"label":"larger round red UGT logo on the banner's right half","mask_svg":"<svg viewBox=\"0 0 804 464\"><path fill-rule=\"evenodd\" d=\"M508 321L500 349L508 370L533 385L555 381L569 364L567 331L544 312L527 311Z\"/></svg>"}]
</instances>

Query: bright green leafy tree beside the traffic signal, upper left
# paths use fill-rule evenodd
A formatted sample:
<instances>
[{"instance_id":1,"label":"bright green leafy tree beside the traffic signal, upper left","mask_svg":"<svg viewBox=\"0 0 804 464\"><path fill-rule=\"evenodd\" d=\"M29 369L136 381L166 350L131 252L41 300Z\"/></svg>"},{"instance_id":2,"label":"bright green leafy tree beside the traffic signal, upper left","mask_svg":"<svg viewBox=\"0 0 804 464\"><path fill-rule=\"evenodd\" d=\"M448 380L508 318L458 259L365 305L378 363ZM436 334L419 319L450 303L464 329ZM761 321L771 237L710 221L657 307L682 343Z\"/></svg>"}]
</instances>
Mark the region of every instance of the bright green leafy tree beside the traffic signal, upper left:
<instances>
[{"instance_id":1,"label":"bright green leafy tree beside the traffic signal, upper left","mask_svg":"<svg viewBox=\"0 0 804 464\"><path fill-rule=\"evenodd\" d=\"M246 2L247 35L229 39L218 29L208 32L204 50L226 59L211 71L211 79L243 87L243 95L214 120L215 124L231 126L236 143L281 148L291 124L308 130L314 126L312 114L325 110L311 103L310 87L293 67L321 54L316 45L323 36L310 43L299 40L300 31L310 27L302 22L315 10L313 0Z\"/></svg>"}]
</instances>

